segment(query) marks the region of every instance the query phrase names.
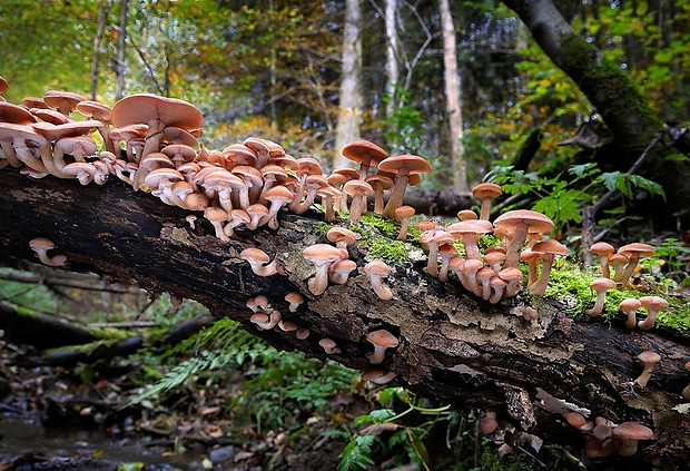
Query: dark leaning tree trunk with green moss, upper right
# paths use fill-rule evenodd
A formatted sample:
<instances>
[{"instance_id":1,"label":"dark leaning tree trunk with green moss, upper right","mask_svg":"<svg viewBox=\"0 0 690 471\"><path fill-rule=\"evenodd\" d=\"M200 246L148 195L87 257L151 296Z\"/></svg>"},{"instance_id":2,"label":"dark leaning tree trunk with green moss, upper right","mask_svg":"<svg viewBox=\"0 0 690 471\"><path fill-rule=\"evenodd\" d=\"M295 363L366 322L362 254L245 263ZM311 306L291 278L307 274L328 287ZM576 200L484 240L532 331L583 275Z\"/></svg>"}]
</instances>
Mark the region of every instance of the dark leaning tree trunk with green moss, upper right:
<instances>
[{"instance_id":1,"label":"dark leaning tree trunk with green moss, upper right","mask_svg":"<svg viewBox=\"0 0 690 471\"><path fill-rule=\"evenodd\" d=\"M602 166L614 165L615 169L625 171L663 127L630 73L604 59L593 43L578 35L552 0L504 0L504 3L520 16L553 63L578 84L613 134L620 157L615 160L617 154L600 153ZM686 133L681 140L679 148L688 145L690 134ZM658 217L670 219L670 215L681 214L682 224L688 227L690 163L666 159L668 154L668 149L657 150L641 175L661 183L667 193L667 210L655 212Z\"/></svg>"}]
</instances>

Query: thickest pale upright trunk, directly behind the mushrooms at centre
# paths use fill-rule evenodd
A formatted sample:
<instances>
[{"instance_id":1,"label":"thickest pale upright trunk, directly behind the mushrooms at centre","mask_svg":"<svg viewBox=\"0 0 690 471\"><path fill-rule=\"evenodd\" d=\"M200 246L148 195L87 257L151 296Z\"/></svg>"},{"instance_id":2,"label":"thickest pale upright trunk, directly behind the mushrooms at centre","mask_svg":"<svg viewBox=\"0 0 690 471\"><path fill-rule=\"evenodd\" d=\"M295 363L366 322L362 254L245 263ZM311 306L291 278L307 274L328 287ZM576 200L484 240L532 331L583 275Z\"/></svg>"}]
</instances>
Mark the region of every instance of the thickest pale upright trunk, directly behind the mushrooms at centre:
<instances>
[{"instance_id":1,"label":"thickest pale upright trunk, directly behind the mushrooms at centre","mask_svg":"<svg viewBox=\"0 0 690 471\"><path fill-rule=\"evenodd\" d=\"M343 31L343 68L341 99L336 125L334 166L348 165L339 151L359 138L362 119L362 6L359 0L345 1L345 27Z\"/></svg>"}]
</instances>

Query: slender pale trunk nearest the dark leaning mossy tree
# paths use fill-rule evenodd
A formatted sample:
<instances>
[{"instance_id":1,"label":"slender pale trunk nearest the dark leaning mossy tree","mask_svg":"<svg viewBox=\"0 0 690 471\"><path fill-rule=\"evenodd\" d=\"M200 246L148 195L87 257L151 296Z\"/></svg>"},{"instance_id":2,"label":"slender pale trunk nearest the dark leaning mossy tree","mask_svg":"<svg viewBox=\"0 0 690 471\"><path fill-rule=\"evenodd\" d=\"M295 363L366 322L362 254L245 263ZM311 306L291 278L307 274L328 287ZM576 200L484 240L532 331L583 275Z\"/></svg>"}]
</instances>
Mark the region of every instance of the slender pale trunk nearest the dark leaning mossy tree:
<instances>
[{"instance_id":1,"label":"slender pale trunk nearest the dark leaning mossy tree","mask_svg":"<svg viewBox=\"0 0 690 471\"><path fill-rule=\"evenodd\" d=\"M460 70L455 50L455 26L448 0L438 0L441 29L443 33L443 66L445 78L446 112L448 115L448 136L451 140L451 163L453 166L453 190L459 195L470 193L467 186L467 166L465 149L462 144L463 120L460 88Z\"/></svg>"}]
</instances>

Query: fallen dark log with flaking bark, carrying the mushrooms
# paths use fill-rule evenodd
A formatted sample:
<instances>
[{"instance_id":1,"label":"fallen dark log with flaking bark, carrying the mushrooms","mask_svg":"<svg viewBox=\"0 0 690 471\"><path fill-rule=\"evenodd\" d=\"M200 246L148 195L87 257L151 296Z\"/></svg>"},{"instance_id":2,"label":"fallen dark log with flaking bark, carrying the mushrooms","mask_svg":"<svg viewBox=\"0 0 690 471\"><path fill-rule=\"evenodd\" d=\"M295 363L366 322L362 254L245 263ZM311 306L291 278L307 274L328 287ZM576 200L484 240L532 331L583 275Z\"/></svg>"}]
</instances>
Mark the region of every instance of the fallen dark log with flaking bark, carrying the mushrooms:
<instances>
[{"instance_id":1,"label":"fallen dark log with flaking bark, carrying the mushrooms","mask_svg":"<svg viewBox=\"0 0 690 471\"><path fill-rule=\"evenodd\" d=\"M690 415L682 412L687 405L680 395L689 381L683 369L690 359L687 337L631 332L622 320L607 325L583 315L571 318L550 300L516 296L489 304L453 279L444 284L428 276L423 259L396 264L386 281L391 301L376 297L361 271L346 284L313 296L307 279L314 268L302 251L327 243L326 225L315 210L283 214L277 230L237 230L224 243L205 220L193 230L186 212L120 181L82 187L76 180L30 179L8 167L0 171L0 263L6 265L36 261L29 241L48 237L57 245L53 252L67 256L70 271L194 298L277 349L359 370L371 366L366 333L387 328L401 343L381 366L420 395L459 409L495 411L518 429L568 444L573 452L582 449L586 434L563 420L568 410L653 429L654 440L642 442L633 458L612 455L604 459L607 465L653 462L674 469L690 459ZM384 234L377 239L386 242ZM247 247L260 247L284 274L255 275L238 256ZM362 268L367 247L351 246L349 258ZM290 292L306 298L295 313L284 301ZM246 307L258 294L310 335L298 340L294 332L258 331ZM538 307L538 321L520 315L526 305ZM333 338L339 353L327 355L318 344L323 337ZM644 350L659 352L662 361L647 387L639 387L632 384L642 370L635 356Z\"/></svg>"}]
</instances>

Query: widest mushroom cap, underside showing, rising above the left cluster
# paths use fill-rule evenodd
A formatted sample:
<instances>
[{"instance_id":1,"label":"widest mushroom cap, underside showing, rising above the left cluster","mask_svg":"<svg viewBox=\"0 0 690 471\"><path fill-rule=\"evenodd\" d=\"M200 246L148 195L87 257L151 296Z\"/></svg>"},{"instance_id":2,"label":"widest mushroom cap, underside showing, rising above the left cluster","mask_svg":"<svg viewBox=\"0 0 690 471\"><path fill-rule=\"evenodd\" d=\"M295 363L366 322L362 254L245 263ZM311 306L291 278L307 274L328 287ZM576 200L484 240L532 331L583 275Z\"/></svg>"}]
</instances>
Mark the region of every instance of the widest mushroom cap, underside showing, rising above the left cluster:
<instances>
[{"instance_id":1,"label":"widest mushroom cap, underside showing, rising above the left cluster","mask_svg":"<svg viewBox=\"0 0 690 471\"><path fill-rule=\"evenodd\" d=\"M154 120L185 130L204 126L201 111L194 105L177 98L135 94L120 99L112 107L112 125L118 128Z\"/></svg>"}]
</instances>

